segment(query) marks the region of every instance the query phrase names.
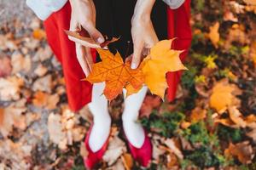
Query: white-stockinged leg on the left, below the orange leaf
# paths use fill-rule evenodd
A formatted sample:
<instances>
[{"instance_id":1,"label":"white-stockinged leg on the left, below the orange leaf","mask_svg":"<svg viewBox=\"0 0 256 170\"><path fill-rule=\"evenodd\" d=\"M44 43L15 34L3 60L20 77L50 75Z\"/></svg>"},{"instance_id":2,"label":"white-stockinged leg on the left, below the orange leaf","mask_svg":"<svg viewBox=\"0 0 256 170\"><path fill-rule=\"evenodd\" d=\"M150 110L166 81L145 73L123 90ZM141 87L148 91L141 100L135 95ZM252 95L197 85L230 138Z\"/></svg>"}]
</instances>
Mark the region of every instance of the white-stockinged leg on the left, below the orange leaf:
<instances>
[{"instance_id":1,"label":"white-stockinged leg on the left, below the orange leaf","mask_svg":"<svg viewBox=\"0 0 256 170\"><path fill-rule=\"evenodd\" d=\"M93 127L90 131L89 145L93 152L100 150L108 139L111 117L108 113L108 100L102 94L105 82L95 83L92 88L91 102L88 105L93 115Z\"/></svg>"}]
</instances>

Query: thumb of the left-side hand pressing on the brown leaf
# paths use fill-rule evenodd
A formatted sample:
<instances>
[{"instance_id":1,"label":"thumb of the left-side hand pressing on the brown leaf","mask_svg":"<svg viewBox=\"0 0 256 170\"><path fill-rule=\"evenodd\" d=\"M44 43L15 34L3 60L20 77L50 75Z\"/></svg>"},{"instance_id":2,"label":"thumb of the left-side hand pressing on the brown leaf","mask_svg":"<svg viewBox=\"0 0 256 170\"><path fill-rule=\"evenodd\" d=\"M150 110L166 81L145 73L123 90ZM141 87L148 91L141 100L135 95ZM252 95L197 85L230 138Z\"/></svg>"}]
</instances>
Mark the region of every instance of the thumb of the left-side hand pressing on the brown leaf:
<instances>
[{"instance_id":1,"label":"thumb of the left-side hand pressing on the brown leaf","mask_svg":"<svg viewBox=\"0 0 256 170\"><path fill-rule=\"evenodd\" d=\"M102 43L105 41L104 37L102 36L102 33L96 29L92 21L84 23L82 24L82 26L86 31L88 31L90 37L94 39L96 42Z\"/></svg>"}]
</instances>

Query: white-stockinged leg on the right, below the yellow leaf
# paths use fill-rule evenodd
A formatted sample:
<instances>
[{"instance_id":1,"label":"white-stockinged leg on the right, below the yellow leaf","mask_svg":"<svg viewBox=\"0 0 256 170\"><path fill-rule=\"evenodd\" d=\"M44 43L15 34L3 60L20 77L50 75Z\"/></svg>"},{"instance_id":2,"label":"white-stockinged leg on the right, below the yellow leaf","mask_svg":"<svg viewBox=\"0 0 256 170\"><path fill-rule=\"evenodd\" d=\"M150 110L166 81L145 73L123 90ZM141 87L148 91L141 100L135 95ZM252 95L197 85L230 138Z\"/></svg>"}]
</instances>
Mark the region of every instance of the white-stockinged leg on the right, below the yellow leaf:
<instances>
[{"instance_id":1,"label":"white-stockinged leg on the right, below the yellow leaf","mask_svg":"<svg viewBox=\"0 0 256 170\"><path fill-rule=\"evenodd\" d=\"M124 95L125 91L124 89ZM137 94L128 96L125 99L125 110L122 115L125 136L137 148L141 148L145 140L143 126L137 122L137 118L147 91L148 88L144 86Z\"/></svg>"}]
</instances>

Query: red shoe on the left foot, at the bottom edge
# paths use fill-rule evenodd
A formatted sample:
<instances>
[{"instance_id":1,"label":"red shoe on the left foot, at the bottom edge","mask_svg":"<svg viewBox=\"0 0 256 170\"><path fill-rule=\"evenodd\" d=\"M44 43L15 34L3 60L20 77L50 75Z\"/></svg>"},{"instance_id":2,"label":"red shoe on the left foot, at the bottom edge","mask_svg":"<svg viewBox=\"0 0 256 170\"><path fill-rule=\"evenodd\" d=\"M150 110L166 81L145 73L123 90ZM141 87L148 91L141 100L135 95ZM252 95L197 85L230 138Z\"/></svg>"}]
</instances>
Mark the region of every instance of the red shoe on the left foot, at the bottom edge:
<instances>
[{"instance_id":1,"label":"red shoe on the left foot, at the bottom edge","mask_svg":"<svg viewBox=\"0 0 256 170\"><path fill-rule=\"evenodd\" d=\"M108 149L108 140L110 137L110 133L109 133L108 139L106 140L105 144L102 145L102 148L100 150L97 150L96 152L93 152L90 149L90 145L89 145L89 137L90 137L90 132L92 127L93 127L93 123L90 125L90 129L87 132L86 137L84 139L86 150L88 150L89 152L87 157L84 157L84 166L86 167L86 169L94 168L96 166L96 163L102 160L102 156L104 155L105 151Z\"/></svg>"}]
</instances>

